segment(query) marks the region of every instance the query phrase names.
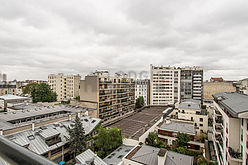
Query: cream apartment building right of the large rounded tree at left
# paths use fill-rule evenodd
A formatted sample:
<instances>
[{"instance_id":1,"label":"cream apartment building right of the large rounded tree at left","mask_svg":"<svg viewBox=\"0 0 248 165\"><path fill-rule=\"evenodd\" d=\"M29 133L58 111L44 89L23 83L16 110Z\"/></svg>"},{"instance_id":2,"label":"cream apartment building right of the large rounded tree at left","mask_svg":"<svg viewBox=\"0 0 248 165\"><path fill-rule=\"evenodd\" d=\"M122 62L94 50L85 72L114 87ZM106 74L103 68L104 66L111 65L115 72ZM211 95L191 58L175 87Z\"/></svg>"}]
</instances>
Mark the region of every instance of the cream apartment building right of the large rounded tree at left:
<instances>
[{"instance_id":1,"label":"cream apartment building right of the large rounded tree at left","mask_svg":"<svg viewBox=\"0 0 248 165\"><path fill-rule=\"evenodd\" d=\"M57 93L57 101L64 101L79 96L80 75L49 74L48 84Z\"/></svg>"}]
</instances>

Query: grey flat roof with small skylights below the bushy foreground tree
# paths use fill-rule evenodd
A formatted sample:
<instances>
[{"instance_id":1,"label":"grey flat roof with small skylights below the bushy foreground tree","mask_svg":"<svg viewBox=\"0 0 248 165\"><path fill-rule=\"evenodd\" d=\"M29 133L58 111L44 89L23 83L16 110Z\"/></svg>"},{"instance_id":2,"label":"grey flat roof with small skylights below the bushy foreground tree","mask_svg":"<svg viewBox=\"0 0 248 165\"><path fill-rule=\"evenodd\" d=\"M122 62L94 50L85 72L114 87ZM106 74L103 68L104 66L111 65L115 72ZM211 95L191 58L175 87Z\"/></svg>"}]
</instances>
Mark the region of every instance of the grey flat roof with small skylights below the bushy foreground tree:
<instances>
[{"instance_id":1,"label":"grey flat roof with small skylights below the bushy foreground tree","mask_svg":"<svg viewBox=\"0 0 248 165\"><path fill-rule=\"evenodd\" d=\"M114 152L106 156L103 160L108 165L118 165L119 163L121 163L122 158L126 156L126 154L131 151L132 148L134 148L134 146L122 145L117 148Z\"/></svg>"}]
</instances>

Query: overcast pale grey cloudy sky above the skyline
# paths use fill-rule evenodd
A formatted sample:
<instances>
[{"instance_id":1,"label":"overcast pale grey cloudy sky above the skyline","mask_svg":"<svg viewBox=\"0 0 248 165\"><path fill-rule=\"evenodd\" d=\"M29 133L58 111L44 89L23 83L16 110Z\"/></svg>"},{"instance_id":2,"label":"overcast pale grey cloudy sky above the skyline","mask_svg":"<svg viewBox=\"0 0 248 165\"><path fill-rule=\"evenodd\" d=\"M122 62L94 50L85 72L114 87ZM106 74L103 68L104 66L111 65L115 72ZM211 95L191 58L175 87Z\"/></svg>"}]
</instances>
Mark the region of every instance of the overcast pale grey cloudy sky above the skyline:
<instances>
[{"instance_id":1,"label":"overcast pale grey cloudy sky above the skyline","mask_svg":"<svg viewBox=\"0 0 248 165\"><path fill-rule=\"evenodd\" d=\"M150 64L248 77L247 0L0 0L0 71L8 79Z\"/></svg>"}]
</instances>

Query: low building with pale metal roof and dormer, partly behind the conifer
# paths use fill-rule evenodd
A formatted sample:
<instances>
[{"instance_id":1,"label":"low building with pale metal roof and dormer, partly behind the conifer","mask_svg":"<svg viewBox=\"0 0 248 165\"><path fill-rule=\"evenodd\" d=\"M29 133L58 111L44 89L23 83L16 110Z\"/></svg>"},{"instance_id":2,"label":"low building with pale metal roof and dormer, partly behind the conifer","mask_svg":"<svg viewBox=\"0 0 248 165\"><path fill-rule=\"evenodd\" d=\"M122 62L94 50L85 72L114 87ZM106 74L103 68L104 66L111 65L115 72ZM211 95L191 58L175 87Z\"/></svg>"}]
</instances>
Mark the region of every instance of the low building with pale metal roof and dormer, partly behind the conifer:
<instances>
[{"instance_id":1,"label":"low building with pale metal roof and dormer, partly behind the conifer","mask_svg":"<svg viewBox=\"0 0 248 165\"><path fill-rule=\"evenodd\" d=\"M86 137L94 136L96 134L94 128L101 122L101 119L82 116L80 120ZM30 130L12 133L6 137L54 162L68 161L71 159L68 127L71 128L72 124L71 120L66 120L36 128L33 127ZM92 141L88 141L87 144L92 145Z\"/></svg>"}]
</instances>

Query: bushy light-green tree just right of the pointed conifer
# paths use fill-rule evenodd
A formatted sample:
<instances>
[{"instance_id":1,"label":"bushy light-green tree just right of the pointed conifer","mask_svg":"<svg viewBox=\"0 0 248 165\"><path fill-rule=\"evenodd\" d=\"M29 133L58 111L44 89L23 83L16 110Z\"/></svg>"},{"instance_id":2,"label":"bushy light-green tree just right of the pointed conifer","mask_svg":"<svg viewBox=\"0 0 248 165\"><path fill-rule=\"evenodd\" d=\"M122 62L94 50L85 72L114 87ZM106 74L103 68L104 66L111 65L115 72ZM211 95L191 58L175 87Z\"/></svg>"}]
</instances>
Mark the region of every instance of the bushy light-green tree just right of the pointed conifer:
<instances>
[{"instance_id":1,"label":"bushy light-green tree just right of the pointed conifer","mask_svg":"<svg viewBox=\"0 0 248 165\"><path fill-rule=\"evenodd\" d=\"M118 128L101 128L93 144L94 151L104 158L122 145L121 130Z\"/></svg>"}]
</instances>

